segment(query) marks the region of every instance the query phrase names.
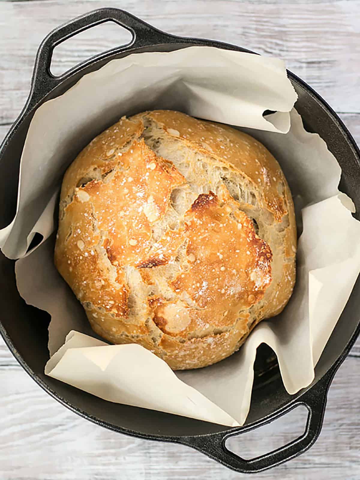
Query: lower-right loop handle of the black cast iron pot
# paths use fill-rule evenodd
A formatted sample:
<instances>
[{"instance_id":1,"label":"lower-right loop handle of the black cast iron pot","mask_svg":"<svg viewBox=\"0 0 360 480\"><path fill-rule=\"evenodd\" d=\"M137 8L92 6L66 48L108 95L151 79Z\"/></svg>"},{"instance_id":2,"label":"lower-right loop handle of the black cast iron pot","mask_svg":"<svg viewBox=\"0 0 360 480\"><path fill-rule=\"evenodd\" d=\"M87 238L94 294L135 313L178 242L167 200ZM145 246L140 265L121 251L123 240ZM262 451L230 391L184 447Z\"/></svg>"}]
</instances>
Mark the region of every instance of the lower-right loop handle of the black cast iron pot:
<instances>
[{"instance_id":1,"label":"lower-right loop handle of the black cast iron pot","mask_svg":"<svg viewBox=\"0 0 360 480\"><path fill-rule=\"evenodd\" d=\"M205 455L213 458L217 462L225 465L228 468L232 468L241 473L256 473L261 472L267 468L276 467L283 462L294 458L305 452L315 442L324 419L324 412L326 406L326 396L329 385L331 383L332 376L326 374L317 384L315 384L310 390L305 392L296 402L292 403L288 408L283 409L277 415L274 415L265 420L261 420L255 423L249 428L237 430L234 433L218 433L210 435L199 435L193 437L185 437L180 440L180 443L191 446L196 450L204 453ZM306 423L305 432L296 440L284 445L272 452L266 453L256 458L245 460L244 458L236 455L228 450L225 445L226 440L238 433L245 433L255 428L261 427L266 423L270 423L273 420L285 415L292 409L303 405L308 409L308 419Z\"/></svg>"}]
</instances>

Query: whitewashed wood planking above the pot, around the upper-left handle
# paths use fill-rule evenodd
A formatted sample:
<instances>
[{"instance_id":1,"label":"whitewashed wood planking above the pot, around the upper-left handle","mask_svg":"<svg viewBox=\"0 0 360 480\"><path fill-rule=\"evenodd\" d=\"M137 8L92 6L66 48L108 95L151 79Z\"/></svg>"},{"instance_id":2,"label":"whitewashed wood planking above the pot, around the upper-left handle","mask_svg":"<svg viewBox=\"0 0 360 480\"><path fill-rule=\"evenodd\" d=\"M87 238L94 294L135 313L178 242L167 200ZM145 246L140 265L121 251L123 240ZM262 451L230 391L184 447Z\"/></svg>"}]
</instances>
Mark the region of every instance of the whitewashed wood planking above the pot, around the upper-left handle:
<instances>
[{"instance_id":1,"label":"whitewashed wood planking above the pot, around the upper-left handle","mask_svg":"<svg viewBox=\"0 0 360 480\"><path fill-rule=\"evenodd\" d=\"M104 6L102 1L0 2L0 124L12 122L29 91L36 50L48 32L71 18ZM119 7L108 0L107 6ZM293 71L337 111L360 112L360 2L306 3L229 0L125 0L121 7L161 30L215 38L287 61ZM119 27L120 32L120 27ZM121 43L115 36L83 34L82 54ZM70 68L79 49L57 61Z\"/></svg>"}]
</instances>

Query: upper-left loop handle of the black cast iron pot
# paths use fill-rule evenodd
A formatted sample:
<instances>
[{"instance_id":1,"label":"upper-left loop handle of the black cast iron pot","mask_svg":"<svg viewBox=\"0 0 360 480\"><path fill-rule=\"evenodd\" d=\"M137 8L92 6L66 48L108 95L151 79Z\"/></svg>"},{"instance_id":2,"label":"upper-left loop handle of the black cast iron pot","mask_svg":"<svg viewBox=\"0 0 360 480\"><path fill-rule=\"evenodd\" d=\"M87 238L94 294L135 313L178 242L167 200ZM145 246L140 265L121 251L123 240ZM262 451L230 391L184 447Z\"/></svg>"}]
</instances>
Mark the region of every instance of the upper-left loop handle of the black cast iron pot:
<instances>
[{"instance_id":1,"label":"upper-left loop handle of the black cast iron pot","mask_svg":"<svg viewBox=\"0 0 360 480\"><path fill-rule=\"evenodd\" d=\"M108 21L121 25L132 34L132 40L130 43L111 49L111 52L114 54L122 51L129 51L133 48L145 47L147 45L169 43L175 38L174 36L161 32L153 26L134 17L131 13L117 8L100 8L85 13L50 32L41 43L36 55L31 93L29 97L30 102L27 105L28 109L33 108L40 99L50 93L51 90L59 85L64 79L71 76L74 69L78 68L78 66L75 66L72 70L69 70L60 76L52 75L50 72L50 63L53 49L64 40L67 40L88 28ZM93 63L94 61L105 60L107 56L108 52L100 53L83 62L82 67L85 68L88 64Z\"/></svg>"}]
</instances>

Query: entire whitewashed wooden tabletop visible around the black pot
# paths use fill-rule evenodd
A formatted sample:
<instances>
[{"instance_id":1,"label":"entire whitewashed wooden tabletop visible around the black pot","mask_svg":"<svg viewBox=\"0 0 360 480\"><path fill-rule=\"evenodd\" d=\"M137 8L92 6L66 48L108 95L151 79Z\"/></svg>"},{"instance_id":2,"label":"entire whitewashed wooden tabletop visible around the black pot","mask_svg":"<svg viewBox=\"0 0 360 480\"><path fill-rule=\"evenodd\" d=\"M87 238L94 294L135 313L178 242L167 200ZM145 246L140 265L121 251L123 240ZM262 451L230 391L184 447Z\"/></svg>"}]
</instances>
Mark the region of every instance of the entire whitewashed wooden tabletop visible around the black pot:
<instances>
[{"instance_id":1,"label":"entire whitewashed wooden tabletop visible around the black pot","mask_svg":"<svg viewBox=\"0 0 360 480\"><path fill-rule=\"evenodd\" d=\"M24 105L36 48L57 25L101 1L0 1L0 142ZM166 0L106 2L176 35L215 38L287 61L339 112L360 143L360 1ZM64 43L53 68L123 43L112 25ZM81 54L79 54L81 52ZM14 319L16 321L16 319ZM360 341L330 388L323 431L304 455L259 479L360 479ZM240 475L190 448L126 437L97 427L50 398L0 340L0 480L235 479ZM286 418L232 442L256 453L301 432ZM279 430L280 429L280 430Z\"/></svg>"}]
</instances>

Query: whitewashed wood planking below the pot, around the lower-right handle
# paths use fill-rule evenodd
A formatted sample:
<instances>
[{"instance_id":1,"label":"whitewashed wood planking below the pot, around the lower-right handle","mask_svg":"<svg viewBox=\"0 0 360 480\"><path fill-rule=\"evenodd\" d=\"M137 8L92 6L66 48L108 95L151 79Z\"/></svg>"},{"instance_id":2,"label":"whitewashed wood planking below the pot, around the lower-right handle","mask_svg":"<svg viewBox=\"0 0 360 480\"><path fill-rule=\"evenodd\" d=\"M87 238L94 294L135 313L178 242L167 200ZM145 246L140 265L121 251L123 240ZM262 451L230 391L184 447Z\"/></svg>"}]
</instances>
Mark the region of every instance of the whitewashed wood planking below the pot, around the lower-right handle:
<instances>
[{"instance_id":1,"label":"whitewashed wood planking below the pot, around the lower-right handle","mask_svg":"<svg viewBox=\"0 0 360 480\"><path fill-rule=\"evenodd\" d=\"M10 355L10 354L8 354ZM359 360L348 358L330 387L324 427L316 444L257 479L358 480L360 477ZM181 445L140 440L84 420L49 397L21 367L0 368L1 480L232 480L239 474ZM236 451L257 451L262 436L279 446L300 432L304 418L284 417L232 440ZM236 445L238 444L238 445ZM234 446L235 445L235 446Z\"/></svg>"}]
</instances>

